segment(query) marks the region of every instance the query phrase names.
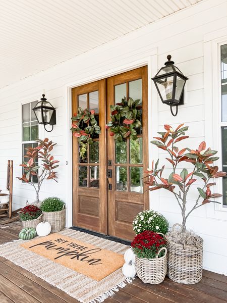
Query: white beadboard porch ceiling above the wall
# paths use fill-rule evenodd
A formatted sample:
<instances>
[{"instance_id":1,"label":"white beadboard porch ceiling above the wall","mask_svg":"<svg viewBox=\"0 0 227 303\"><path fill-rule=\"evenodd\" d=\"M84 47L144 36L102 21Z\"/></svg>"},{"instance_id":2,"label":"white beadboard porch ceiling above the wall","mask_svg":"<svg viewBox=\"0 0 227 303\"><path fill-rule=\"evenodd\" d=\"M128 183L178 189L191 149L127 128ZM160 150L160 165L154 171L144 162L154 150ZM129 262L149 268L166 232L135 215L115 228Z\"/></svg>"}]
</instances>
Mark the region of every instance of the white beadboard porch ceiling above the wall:
<instances>
[{"instance_id":1,"label":"white beadboard porch ceiling above the wall","mask_svg":"<svg viewBox=\"0 0 227 303\"><path fill-rule=\"evenodd\" d=\"M1 0L0 88L202 0Z\"/></svg>"}]
</instances>

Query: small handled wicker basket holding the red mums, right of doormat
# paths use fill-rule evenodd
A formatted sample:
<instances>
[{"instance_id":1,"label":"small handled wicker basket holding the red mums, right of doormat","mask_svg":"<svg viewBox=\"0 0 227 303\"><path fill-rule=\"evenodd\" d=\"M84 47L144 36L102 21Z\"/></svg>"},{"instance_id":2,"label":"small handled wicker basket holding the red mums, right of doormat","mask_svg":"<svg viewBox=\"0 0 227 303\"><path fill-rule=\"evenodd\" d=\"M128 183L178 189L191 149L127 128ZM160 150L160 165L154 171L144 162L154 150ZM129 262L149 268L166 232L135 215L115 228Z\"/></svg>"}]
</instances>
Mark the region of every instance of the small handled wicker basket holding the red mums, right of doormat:
<instances>
[{"instance_id":1,"label":"small handled wicker basket holding the red mums, right of doormat","mask_svg":"<svg viewBox=\"0 0 227 303\"><path fill-rule=\"evenodd\" d=\"M165 254L158 258L162 250L165 250ZM162 247L154 259L144 259L136 256L136 274L143 283L159 284L164 280L167 270L166 252L167 249Z\"/></svg>"}]
</instances>

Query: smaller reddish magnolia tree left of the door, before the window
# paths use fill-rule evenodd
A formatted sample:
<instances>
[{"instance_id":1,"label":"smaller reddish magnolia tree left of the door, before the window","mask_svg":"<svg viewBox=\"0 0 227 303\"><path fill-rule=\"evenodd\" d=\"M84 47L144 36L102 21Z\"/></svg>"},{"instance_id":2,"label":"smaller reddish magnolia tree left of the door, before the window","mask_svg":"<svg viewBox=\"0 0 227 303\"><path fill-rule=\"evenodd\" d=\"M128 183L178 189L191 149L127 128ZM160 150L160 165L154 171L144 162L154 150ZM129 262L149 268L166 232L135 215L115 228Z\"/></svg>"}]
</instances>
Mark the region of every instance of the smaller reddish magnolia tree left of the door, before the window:
<instances>
[{"instance_id":1,"label":"smaller reddish magnolia tree left of the door, before the window","mask_svg":"<svg viewBox=\"0 0 227 303\"><path fill-rule=\"evenodd\" d=\"M28 158L28 162L23 162L20 166L24 168L24 174L22 177L18 177L19 180L22 180L35 188L36 191L36 203L39 203L39 191L40 187L44 180L53 179L56 181L55 168L59 167L57 163L58 160L54 160L51 156L50 151L53 149L53 146L56 143L49 141L48 138L44 140L35 140L39 143L36 147L29 147L25 158ZM41 166L37 165L35 161L41 160ZM41 168L41 169L40 169ZM36 177L37 182L33 181L33 177ZM57 182L57 181L56 181Z\"/></svg>"}]
</instances>

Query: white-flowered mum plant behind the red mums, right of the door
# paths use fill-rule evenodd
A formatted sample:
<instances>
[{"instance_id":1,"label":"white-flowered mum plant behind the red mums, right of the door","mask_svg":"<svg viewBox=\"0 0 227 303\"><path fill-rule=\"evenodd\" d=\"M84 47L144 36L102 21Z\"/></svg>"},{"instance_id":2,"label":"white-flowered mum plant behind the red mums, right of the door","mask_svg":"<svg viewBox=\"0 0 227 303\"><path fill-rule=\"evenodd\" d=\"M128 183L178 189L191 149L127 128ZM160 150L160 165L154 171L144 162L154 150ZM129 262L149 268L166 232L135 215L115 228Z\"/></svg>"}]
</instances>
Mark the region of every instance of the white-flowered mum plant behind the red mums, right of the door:
<instances>
[{"instance_id":1,"label":"white-flowered mum plant behind the red mums, right of the door","mask_svg":"<svg viewBox=\"0 0 227 303\"><path fill-rule=\"evenodd\" d=\"M168 221L158 212L152 210L143 211L135 217L133 230L137 235L144 230L152 230L165 234L168 231Z\"/></svg>"}]
</instances>

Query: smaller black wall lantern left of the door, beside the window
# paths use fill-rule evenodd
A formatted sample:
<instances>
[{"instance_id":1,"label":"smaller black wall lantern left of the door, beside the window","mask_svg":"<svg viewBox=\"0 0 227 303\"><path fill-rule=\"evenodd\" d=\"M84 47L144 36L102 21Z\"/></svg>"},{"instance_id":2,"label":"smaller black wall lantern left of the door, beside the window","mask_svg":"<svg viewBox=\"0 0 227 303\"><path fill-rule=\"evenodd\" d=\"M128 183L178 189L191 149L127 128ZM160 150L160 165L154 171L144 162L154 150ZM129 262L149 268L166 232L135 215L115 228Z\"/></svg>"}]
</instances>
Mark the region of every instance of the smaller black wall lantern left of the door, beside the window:
<instances>
[{"instance_id":1,"label":"smaller black wall lantern left of the door, beside the window","mask_svg":"<svg viewBox=\"0 0 227 303\"><path fill-rule=\"evenodd\" d=\"M44 125L46 131L51 132L53 130L53 125L56 124L56 109L46 101L45 95L42 95L36 106L32 109L35 113L36 119L39 124ZM46 129L46 125L52 125L51 130Z\"/></svg>"}]
</instances>

